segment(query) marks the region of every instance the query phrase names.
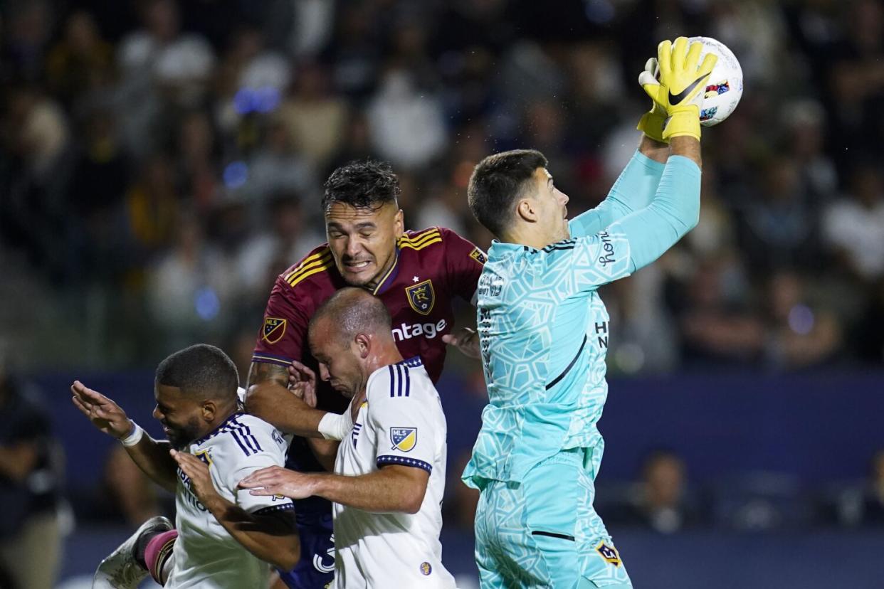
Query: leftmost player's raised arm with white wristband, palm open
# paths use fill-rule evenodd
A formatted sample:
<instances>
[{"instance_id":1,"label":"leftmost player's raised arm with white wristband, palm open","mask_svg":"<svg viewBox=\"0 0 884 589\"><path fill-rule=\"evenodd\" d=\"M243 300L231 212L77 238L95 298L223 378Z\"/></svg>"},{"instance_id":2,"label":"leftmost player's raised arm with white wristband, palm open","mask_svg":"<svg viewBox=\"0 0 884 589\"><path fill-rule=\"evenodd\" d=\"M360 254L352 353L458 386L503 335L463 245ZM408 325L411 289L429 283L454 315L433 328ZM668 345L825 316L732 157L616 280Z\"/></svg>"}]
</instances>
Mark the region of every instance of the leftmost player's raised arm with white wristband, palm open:
<instances>
[{"instance_id":1,"label":"leftmost player's raised arm with white wristband, palm open","mask_svg":"<svg viewBox=\"0 0 884 589\"><path fill-rule=\"evenodd\" d=\"M175 492L175 461L169 456L169 442L154 440L126 416L107 396L80 381L71 385L72 402L100 432L122 442L133 462L160 487Z\"/></svg>"}]
</instances>

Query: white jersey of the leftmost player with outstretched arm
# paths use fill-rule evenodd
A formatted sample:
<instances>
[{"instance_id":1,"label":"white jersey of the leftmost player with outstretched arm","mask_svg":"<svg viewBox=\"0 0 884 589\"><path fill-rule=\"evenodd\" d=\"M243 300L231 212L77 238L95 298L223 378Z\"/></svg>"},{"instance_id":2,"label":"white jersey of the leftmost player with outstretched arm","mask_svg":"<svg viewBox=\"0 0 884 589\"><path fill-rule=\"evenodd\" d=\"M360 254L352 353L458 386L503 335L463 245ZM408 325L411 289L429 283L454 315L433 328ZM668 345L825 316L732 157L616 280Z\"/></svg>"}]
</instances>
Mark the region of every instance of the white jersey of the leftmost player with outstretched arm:
<instances>
[{"instance_id":1,"label":"white jersey of the leftmost player with outstretched arm","mask_svg":"<svg viewBox=\"0 0 884 589\"><path fill-rule=\"evenodd\" d=\"M292 500L256 497L236 486L252 472L286 462L286 442L273 426L246 413L233 413L211 434L192 442L187 451L209 464L217 492L249 513L293 510ZM178 469L175 494L175 566L167 589L240 589L267 587L270 564L252 555L224 529L190 489Z\"/></svg>"}]
</instances>

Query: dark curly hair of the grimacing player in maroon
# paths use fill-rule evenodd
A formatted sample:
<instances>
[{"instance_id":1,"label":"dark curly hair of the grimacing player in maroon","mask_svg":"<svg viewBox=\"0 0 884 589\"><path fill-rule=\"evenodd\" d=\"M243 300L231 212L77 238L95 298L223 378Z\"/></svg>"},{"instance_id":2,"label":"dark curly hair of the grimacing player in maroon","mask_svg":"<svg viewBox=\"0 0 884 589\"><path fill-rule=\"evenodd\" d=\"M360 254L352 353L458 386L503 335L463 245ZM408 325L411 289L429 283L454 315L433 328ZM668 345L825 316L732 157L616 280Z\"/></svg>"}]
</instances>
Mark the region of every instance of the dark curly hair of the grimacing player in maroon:
<instances>
[{"instance_id":1,"label":"dark curly hair of the grimacing player in maroon","mask_svg":"<svg viewBox=\"0 0 884 589\"><path fill-rule=\"evenodd\" d=\"M387 202L397 202L402 189L387 162L362 160L349 162L331 172L325 181L323 210L340 202L353 208L375 210Z\"/></svg>"}]
</instances>

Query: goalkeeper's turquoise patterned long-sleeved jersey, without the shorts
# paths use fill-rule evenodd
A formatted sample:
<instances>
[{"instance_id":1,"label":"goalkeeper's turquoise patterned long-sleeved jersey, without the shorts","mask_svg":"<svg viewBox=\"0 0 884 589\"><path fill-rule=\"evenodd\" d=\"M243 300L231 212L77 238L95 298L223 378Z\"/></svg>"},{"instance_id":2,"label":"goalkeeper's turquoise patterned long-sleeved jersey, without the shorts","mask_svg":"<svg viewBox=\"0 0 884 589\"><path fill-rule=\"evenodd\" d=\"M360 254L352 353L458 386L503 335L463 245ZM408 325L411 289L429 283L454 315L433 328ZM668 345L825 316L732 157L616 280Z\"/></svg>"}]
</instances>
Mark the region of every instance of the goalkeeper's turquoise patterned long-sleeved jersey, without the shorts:
<instances>
[{"instance_id":1,"label":"goalkeeper's turquoise patterned long-sleeved jersey, without the shorts","mask_svg":"<svg viewBox=\"0 0 884 589\"><path fill-rule=\"evenodd\" d=\"M608 198L569 223L571 238L542 250L492 243L476 301L489 404L467 485L521 481L560 450L600 449L610 325L598 287L696 225L699 180L686 158L664 169L636 153ZM592 456L600 462L600 451Z\"/></svg>"}]
</instances>

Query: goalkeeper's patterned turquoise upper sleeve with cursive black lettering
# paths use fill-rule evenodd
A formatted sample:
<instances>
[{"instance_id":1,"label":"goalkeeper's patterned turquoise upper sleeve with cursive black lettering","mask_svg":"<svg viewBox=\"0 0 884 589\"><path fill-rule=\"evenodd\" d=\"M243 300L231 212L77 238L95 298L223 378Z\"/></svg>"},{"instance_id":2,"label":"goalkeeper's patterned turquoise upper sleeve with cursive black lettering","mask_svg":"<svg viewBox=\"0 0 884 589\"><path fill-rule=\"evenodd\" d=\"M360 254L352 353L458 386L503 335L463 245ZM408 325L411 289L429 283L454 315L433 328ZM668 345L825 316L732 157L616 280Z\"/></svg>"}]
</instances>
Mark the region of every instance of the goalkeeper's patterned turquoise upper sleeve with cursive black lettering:
<instances>
[{"instance_id":1,"label":"goalkeeper's patterned turquoise upper sleeve with cursive black lettering","mask_svg":"<svg viewBox=\"0 0 884 589\"><path fill-rule=\"evenodd\" d=\"M594 291L599 286L629 276L629 239L620 232L599 231L585 238L570 238L547 245L545 283L561 294Z\"/></svg>"}]
</instances>

